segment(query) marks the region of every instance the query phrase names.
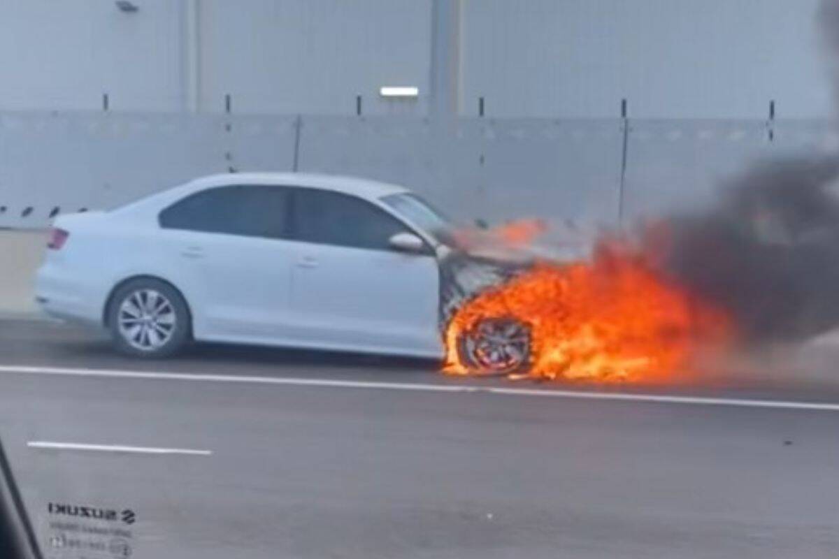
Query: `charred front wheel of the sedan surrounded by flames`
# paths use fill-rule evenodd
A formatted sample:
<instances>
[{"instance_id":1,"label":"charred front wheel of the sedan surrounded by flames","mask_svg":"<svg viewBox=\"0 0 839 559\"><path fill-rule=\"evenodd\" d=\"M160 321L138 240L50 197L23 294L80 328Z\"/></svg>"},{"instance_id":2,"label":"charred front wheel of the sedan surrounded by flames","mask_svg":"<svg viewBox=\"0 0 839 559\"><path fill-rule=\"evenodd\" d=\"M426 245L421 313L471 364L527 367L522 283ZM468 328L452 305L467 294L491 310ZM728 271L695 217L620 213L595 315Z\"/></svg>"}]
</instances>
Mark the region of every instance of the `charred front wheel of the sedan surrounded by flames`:
<instances>
[{"instance_id":1,"label":"charred front wheel of the sedan surrounded by flames","mask_svg":"<svg viewBox=\"0 0 839 559\"><path fill-rule=\"evenodd\" d=\"M509 375L530 362L530 329L514 318L487 318L458 340L461 363L475 375Z\"/></svg>"}]
</instances>

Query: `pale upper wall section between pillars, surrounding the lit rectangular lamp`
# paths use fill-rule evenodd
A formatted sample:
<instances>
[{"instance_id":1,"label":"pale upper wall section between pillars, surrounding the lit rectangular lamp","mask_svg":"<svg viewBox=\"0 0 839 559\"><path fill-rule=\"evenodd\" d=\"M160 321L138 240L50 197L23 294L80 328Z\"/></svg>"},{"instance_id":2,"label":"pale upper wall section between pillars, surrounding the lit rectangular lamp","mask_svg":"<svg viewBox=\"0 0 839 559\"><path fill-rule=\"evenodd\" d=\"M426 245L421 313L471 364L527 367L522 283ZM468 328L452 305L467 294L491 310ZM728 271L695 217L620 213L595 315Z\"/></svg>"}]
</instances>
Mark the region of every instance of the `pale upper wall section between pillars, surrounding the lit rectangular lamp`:
<instances>
[{"instance_id":1,"label":"pale upper wall section between pillars, surrounding the lit rectangular lamp","mask_svg":"<svg viewBox=\"0 0 839 559\"><path fill-rule=\"evenodd\" d=\"M201 108L236 112L424 114L430 0L204 0ZM381 85L416 85L420 101L386 101Z\"/></svg>"}]
</instances>

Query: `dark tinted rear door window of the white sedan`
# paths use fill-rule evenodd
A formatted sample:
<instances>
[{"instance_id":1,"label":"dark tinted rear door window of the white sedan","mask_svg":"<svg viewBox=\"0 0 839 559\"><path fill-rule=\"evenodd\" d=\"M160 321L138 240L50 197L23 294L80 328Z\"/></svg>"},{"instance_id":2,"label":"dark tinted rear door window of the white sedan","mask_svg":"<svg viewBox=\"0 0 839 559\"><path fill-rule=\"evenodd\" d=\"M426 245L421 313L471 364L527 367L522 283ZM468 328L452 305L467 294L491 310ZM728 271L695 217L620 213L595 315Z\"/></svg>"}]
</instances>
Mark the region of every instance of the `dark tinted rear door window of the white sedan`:
<instances>
[{"instance_id":1,"label":"dark tinted rear door window of the white sedan","mask_svg":"<svg viewBox=\"0 0 839 559\"><path fill-rule=\"evenodd\" d=\"M282 238L287 236L289 190L226 186L193 194L160 213L166 229Z\"/></svg>"}]
</instances>

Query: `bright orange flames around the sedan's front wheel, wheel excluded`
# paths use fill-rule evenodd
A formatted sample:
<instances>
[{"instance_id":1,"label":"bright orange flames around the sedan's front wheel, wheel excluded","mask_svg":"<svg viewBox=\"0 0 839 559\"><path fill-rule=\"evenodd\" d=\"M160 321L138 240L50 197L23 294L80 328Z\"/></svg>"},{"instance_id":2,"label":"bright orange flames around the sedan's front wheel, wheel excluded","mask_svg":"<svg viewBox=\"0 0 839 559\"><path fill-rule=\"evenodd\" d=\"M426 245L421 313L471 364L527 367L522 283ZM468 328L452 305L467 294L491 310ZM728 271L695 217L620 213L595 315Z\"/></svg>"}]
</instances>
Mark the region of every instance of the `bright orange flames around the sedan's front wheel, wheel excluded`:
<instances>
[{"instance_id":1,"label":"bright orange flames around the sedan's front wheel, wheel excluded","mask_svg":"<svg viewBox=\"0 0 839 559\"><path fill-rule=\"evenodd\" d=\"M591 261L540 262L466 303L446 328L446 373L472 372L459 339L486 318L529 327L529 370L517 378L652 380L680 369L700 344L732 335L726 313L618 243L603 243Z\"/></svg>"}]
</instances>

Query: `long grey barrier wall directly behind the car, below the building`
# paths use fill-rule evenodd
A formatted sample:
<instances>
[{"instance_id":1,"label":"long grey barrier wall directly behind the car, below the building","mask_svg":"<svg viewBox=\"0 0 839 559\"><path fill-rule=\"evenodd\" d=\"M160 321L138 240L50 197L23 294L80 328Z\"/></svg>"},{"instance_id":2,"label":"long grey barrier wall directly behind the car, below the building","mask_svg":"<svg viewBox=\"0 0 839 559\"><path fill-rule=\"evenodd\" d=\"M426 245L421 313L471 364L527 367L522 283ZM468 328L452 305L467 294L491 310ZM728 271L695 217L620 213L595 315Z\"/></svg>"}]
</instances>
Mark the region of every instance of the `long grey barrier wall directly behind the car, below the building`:
<instances>
[{"instance_id":1,"label":"long grey barrier wall directly behind the car, below the building","mask_svg":"<svg viewBox=\"0 0 839 559\"><path fill-rule=\"evenodd\" d=\"M0 112L0 227L242 171L404 184L460 221L617 225L706 204L749 165L794 153L839 153L834 123Z\"/></svg>"}]
</instances>

